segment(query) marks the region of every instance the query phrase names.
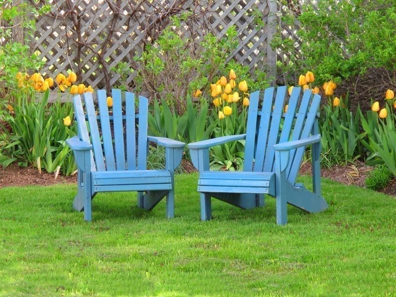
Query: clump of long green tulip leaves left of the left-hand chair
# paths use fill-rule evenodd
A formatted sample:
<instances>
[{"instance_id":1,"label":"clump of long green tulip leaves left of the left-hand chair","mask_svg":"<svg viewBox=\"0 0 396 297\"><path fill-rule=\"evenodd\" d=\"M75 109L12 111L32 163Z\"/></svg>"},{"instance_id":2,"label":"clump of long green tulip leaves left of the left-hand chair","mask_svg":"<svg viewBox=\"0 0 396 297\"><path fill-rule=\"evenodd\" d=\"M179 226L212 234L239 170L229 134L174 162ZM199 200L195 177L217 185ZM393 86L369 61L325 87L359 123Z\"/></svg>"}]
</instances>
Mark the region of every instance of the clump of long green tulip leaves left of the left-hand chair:
<instances>
[{"instance_id":1,"label":"clump of long green tulip leaves left of the left-hand chair","mask_svg":"<svg viewBox=\"0 0 396 297\"><path fill-rule=\"evenodd\" d=\"M34 93L30 94L33 98ZM72 104L56 102L48 104L49 91L35 102L29 94L20 93L13 106L15 116L9 120L12 134L4 147L8 160L3 166L18 161L19 165L32 164L39 171L70 175L76 170L70 149L65 143L75 136L75 127L63 125L63 118L72 117Z\"/></svg>"}]
</instances>

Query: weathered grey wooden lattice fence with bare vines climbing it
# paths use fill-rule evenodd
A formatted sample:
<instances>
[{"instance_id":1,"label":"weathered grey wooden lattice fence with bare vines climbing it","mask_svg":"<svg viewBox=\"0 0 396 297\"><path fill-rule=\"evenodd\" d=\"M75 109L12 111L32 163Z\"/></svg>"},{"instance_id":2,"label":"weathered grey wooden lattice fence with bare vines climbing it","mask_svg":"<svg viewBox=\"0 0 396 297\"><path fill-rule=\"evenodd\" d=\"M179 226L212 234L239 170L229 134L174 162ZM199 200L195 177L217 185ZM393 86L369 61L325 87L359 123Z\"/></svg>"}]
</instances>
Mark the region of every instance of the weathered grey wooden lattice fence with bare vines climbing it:
<instances>
[{"instance_id":1,"label":"weathered grey wooden lattice fence with bare vines climbing it","mask_svg":"<svg viewBox=\"0 0 396 297\"><path fill-rule=\"evenodd\" d=\"M55 77L72 69L81 82L94 88L111 87L120 76L113 67L134 58L169 24L169 17L191 11L193 28L182 34L219 38L229 26L238 31L235 58L250 69L275 68L268 45L275 30L276 4L268 0L50 0L51 12L38 19L33 50L46 61L46 75ZM257 12L264 26L257 25ZM275 22L276 23L276 22ZM136 65L135 65L136 66ZM133 82L134 74L126 78Z\"/></svg>"}]
</instances>

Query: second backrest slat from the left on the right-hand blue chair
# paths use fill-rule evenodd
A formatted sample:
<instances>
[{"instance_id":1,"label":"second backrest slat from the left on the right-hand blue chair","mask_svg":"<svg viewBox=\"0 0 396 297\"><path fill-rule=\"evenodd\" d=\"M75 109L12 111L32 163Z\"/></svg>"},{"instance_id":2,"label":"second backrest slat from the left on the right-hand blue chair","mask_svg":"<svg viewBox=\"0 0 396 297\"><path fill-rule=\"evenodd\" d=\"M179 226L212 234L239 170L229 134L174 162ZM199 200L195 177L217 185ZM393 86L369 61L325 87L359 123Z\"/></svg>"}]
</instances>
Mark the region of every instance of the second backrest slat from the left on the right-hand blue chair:
<instances>
[{"instance_id":1,"label":"second backrest slat from the left on the right-hand blue chair","mask_svg":"<svg viewBox=\"0 0 396 297\"><path fill-rule=\"evenodd\" d=\"M258 136L257 143L263 144L263 146L256 149L255 161L254 161L254 171L263 171L265 149L268 139L268 133L270 131L271 113L274 101L274 91L275 88L267 88L264 91L263 107L261 109L261 117L258 126ZM253 142L252 142L253 143Z\"/></svg>"}]
</instances>

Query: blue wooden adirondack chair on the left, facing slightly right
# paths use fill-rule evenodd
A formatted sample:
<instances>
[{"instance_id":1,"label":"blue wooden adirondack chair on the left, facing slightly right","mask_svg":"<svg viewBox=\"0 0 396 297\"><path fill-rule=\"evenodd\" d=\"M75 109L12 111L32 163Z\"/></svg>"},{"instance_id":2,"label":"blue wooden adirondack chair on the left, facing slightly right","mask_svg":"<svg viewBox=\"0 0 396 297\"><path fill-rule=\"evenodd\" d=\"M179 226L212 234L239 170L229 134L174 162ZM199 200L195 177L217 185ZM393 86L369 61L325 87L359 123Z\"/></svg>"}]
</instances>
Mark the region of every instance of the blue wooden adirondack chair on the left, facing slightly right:
<instances>
[{"instance_id":1,"label":"blue wooden adirondack chair on the left, facing slightly right","mask_svg":"<svg viewBox=\"0 0 396 297\"><path fill-rule=\"evenodd\" d=\"M66 143L73 150L78 167L74 209L84 210L84 219L91 221L91 200L98 192L137 191L138 207L146 210L166 196L166 215L172 218L173 173L180 164L184 143L147 135L147 98L139 96L135 115L133 93L125 92L122 98L121 91L113 89L113 113L107 106L106 91L99 90L97 95L98 115L91 93L73 98L78 136ZM166 148L165 170L147 170L149 142Z\"/></svg>"}]
</instances>

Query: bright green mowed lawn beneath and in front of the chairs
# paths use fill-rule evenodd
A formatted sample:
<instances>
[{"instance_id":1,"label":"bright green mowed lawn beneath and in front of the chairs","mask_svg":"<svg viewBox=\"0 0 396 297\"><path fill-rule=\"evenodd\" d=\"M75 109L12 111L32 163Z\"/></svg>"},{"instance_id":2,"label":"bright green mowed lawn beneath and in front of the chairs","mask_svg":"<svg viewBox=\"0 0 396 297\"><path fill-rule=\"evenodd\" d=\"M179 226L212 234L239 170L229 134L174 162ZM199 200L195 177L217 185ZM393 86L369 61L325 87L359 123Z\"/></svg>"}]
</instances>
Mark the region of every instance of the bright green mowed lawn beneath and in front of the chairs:
<instances>
[{"instance_id":1,"label":"bright green mowed lawn beneath and in front of the chairs","mask_svg":"<svg viewBox=\"0 0 396 297\"><path fill-rule=\"evenodd\" d=\"M75 185L0 189L0 296L393 296L396 199L322 179L329 209L275 199L241 210L213 203L200 221L197 174L176 176L175 218L135 193L100 193L93 221ZM300 178L309 184L309 177Z\"/></svg>"}]
</instances>

